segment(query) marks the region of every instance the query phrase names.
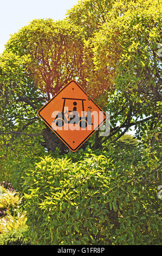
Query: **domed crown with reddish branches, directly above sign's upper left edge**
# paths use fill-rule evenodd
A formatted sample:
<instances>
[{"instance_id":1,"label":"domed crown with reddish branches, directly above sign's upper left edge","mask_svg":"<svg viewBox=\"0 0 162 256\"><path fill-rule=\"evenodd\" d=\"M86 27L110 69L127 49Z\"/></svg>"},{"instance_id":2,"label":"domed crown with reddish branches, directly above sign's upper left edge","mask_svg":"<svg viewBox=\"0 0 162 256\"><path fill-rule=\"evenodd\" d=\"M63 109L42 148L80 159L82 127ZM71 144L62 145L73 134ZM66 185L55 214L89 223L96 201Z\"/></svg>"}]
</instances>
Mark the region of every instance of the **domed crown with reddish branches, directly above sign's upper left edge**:
<instances>
[{"instance_id":1,"label":"domed crown with reddish branches, directly above sign's upper left edge","mask_svg":"<svg viewBox=\"0 0 162 256\"><path fill-rule=\"evenodd\" d=\"M27 70L43 92L54 94L67 77L78 76L82 59L80 28L69 22L51 19L33 20L11 36L7 52L27 64ZM19 57L18 57L19 56ZM26 70L26 71L27 71ZM56 86L57 84L57 86Z\"/></svg>"}]
</instances>

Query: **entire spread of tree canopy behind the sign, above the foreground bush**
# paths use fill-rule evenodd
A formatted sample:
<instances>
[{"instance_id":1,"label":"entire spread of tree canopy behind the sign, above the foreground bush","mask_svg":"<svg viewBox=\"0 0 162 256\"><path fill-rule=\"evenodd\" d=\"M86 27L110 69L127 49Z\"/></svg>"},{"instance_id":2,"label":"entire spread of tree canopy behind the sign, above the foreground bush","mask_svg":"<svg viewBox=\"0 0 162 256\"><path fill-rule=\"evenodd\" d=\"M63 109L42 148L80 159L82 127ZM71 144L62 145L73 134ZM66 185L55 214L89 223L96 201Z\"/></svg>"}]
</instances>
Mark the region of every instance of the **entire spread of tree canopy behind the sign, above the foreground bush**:
<instances>
[{"instance_id":1,"label":"entire spread of tree canopy behind the sign, above the foreground bush","mask_svg":"<svg viewBox=\"0 0 162 256\"><path fill-rule=\"evenodd\" d=\"M81 1L64 21L34 20L11 36L1 57L4 143L43 136L47 150L67 151L36 111L72 78L111 111L111 132L96 132L93 147L117 141L132 126L138 138L145 130L159 136L159 43L158 0Z\"/></svg>"}]
</instances>

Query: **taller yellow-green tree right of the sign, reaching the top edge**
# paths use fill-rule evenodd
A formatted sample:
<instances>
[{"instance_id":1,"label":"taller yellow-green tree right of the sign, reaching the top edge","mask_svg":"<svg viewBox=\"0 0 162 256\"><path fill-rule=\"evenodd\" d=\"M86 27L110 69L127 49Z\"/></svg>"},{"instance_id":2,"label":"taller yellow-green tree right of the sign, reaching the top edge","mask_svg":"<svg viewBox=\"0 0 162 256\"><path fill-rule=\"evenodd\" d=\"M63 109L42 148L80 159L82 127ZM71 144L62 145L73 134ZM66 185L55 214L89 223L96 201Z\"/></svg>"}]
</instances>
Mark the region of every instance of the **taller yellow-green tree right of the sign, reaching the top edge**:
<instances>
[{"instance_id":1,"label":"taller yellow-green tree right of the sign, reaching the top edge","mask_svg":"<svg viewBox=\"0 0 162 256\"><path fill-rule=\"evenodd\" d=\"M116 141L133 125L138 138L145 130L159 134L159 1L81 1L67 19L85 27L87 84L102 92L99 100L112 112L111 133L98 145Z\"/></svg>"}]
</instances>

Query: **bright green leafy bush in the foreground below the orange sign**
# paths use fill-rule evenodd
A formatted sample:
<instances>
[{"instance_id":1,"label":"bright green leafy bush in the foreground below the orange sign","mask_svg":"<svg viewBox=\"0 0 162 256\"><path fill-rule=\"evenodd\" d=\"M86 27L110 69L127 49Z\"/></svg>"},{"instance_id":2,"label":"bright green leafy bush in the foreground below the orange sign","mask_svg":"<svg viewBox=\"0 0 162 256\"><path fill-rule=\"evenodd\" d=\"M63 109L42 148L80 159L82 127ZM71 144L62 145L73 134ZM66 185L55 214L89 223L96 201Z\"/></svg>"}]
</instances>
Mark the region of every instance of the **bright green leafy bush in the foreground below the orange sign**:
<instances>
[{"instance_id":1,"label":"bright green leafy bush in the foreground below the orange sign","mask_svg":"<svg viewBox=\"0 0 162 256\"><path fill-rule=\"evenodd\" d=\"M111 157L45 157L24 176L31 239L40 245L160 244L160 200L146 171Z\"/></svg>"}]
</instances>

